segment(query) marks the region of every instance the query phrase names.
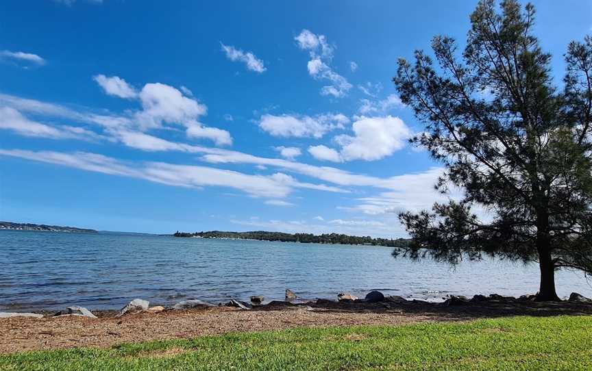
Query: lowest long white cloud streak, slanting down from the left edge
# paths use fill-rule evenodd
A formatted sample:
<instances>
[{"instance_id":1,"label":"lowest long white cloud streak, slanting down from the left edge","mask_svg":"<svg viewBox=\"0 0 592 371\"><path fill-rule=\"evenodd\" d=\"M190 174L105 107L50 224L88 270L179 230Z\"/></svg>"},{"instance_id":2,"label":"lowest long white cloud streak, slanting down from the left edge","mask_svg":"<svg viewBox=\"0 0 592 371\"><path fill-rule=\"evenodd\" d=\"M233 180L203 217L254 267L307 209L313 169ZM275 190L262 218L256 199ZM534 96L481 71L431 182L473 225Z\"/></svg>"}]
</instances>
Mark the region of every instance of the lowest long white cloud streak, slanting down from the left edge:
<instances>
[{"instance_id":1,"label":"lowest long white cloud streak, slanting down from the left edge","mask_svg":"<svg viewBox=\"0 0 592 371\"><path fill-rule=\"evenodd\" d=\"M301 183L289 175L282 173L263 176L206 166L167 164L164 162L121 162L112 157L86 152L61 153L54 151L0 149L0 155L20 157L37 162L102 172L110 175L134 177L180 187L201 188L204 186L217 186L234 188L245 192L249 196L269 199L283 199L294 188L344 192L339 188L328 187L326 185Z\"/></svg>"}]
</instances>

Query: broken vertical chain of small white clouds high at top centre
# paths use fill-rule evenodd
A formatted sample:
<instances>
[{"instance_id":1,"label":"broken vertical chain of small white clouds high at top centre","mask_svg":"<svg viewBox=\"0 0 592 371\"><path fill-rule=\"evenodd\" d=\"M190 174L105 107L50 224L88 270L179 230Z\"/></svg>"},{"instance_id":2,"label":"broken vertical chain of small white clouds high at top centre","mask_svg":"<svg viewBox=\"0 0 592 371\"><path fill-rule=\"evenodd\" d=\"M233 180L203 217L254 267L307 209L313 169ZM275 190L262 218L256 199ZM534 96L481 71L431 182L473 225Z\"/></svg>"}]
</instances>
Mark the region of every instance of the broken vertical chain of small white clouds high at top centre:
<instances>
[{"instance_id":1,"label":"broken vertical chain of small white clouds high at top centre","mask_svg":"<svg viewBox=\"0 0 592 371\"><path fill-rule=\"evenodd\" d=\"M308 51L310 56L310 60L306 64L308 74L314 79L331 83L321 88L321 95L331 95L335 98L345 97L352 85L345 77L330 67L334 48L327 42L327 38L324 35L313 34L308 29L303 29L294 39L300 49Z\"/></svg>"}]
</instances>

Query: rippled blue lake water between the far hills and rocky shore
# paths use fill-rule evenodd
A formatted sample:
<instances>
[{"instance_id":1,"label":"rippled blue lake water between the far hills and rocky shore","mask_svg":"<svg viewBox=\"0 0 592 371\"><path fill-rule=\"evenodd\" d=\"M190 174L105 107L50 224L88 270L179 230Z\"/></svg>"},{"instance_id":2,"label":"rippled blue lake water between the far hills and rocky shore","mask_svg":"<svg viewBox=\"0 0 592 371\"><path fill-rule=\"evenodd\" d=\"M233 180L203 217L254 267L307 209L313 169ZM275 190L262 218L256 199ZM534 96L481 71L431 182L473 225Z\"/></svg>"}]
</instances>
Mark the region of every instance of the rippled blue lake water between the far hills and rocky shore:
<instances>
[{"instance_id":1,"label":"rippled blue lake water between the far hills and rocky shore","mask_svg":"<svg viewBox=\"0 0 592 371\"><path fill-rule=\"evenodd\" d=\"M172 304L186 298L221 302L251 295L284 298L364 296L370 290L442 300L446 294L532 294L536 266L391 257L391 248L202 240L123 233L0 231L0 311L119 309L134 298ZM580 272L558 272L559 296L592 296Z\"/></svg>"}]
</instances>

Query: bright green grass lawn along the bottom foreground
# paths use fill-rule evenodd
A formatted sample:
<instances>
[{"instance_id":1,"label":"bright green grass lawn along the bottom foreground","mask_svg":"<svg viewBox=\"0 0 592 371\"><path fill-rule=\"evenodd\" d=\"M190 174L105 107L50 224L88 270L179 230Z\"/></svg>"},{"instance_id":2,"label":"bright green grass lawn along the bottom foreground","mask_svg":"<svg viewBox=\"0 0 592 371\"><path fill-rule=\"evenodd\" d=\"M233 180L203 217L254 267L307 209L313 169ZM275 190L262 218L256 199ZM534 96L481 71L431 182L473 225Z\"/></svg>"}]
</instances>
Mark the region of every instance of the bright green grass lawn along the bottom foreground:
<instances>
[{"instance_id":1,"label":"bright green grass lawn along the bottom foreground","mask_svg":"<svg viewBox=\"0 0 592 371\"><path fill-rule=\"evenodd\" d=\"M592 370L592 317L233 333L3 355L0 370Z\"/></svg>"}]
</instances>

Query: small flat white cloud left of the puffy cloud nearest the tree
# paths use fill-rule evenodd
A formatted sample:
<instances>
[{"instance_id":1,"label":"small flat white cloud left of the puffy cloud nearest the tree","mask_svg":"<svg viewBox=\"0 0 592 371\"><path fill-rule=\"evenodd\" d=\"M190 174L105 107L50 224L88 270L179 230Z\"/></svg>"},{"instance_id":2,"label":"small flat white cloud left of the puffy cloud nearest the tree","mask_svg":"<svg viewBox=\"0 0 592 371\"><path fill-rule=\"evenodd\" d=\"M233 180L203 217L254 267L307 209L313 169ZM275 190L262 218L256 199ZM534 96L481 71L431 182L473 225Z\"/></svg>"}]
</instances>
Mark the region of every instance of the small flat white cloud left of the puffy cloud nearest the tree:
<instances>
[{"instance_id":1,"label":"small flat white cloud left of the puffy cloud nearest the tree","mask_svg":"<svg viewBox=\"0 0 592 371\"><path fill-rule=\"evenodd\" d=\"M279 137L321 138L326 132L343 129L349 118L343 114L321 114L314 117L264 114L259 120L259 127Z\"/></svg>"}]
</instances>

